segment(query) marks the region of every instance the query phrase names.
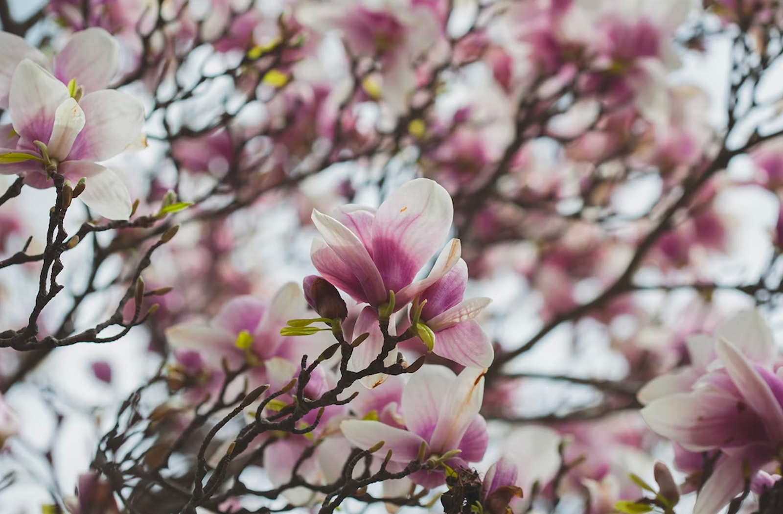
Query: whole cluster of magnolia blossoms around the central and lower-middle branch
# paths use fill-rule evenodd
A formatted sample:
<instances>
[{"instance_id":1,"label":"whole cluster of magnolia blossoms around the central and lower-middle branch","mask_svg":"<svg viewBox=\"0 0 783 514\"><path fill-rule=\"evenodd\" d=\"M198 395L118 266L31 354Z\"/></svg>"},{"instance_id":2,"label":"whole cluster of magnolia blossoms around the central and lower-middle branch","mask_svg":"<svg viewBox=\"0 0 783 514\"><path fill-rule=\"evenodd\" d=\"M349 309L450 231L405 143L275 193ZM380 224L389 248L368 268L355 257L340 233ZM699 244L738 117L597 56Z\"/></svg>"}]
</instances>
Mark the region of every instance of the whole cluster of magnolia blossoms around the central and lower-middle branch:
<instances>
[{"instance_id":1,"label":"whole cluster of magnolia blossoms around the central and lower-middle branch","mask_svg":"<svg viewBox=\"0 0 783 514\"><path fill-rule=\"evenodd\" d=\"M489 299L463 298L467 266L460 259L460 241L448 241L427 277L415 280L446 240L452 215L449 194L430 179L402 185L377 210L346 205L334 217L314 210L313 222L323 240L313 241L312 262L323 277L306 277L304 291L287 284L269 303L237 297L208 324L169 328L166 336L175 355L170 384L184 388L193 401L219 397L226 373L247 367L246 386L268 384L274 392L297 378L303 356L322 355L334 343L334 331L357 345L347 371L363 371L378 359L388 367L405 362L396 346L388 348L396 329L401 340L419 338L432 353L467 367L455 375L448 367L425 364L407 382L399 376L387 380L382 372L366 375L355 400L321 412L309 437L292 435L272 443L263 465L276 469L271 479L280 487L291 480L294 465L317 438L323 442L298 472L330 483L341 476L351 445L369 450L382 442L384 451L391 452L391 472L417 460L442 464L435 471L422 469L394 480L392 490L404 494L411 482L427 488L442 485L445 469L468 469L484 456L489 435L478 411L483 375L493 360L489 338L474 320ZM351 297L350 308L335 286ZM307 310L305 300L315 312ZM396 315L406 308L406 317ZM313 317L316 313L319 318ZM400 318L399 323L390 318ZM292 326L287 327L289 320ZM319 330L312 322L326 322L330 328ZM301 335L306 337L296 337ZM334 388L340 378L334 364L326 360L316 368L305 397L314 400ZM276 396L273 407L279 411L294 401L294 396ZM301 422L316 422L315 416L312 412ZM297 505L313 496L304 488L284 494Z\"/></svg>"}]
</instances>

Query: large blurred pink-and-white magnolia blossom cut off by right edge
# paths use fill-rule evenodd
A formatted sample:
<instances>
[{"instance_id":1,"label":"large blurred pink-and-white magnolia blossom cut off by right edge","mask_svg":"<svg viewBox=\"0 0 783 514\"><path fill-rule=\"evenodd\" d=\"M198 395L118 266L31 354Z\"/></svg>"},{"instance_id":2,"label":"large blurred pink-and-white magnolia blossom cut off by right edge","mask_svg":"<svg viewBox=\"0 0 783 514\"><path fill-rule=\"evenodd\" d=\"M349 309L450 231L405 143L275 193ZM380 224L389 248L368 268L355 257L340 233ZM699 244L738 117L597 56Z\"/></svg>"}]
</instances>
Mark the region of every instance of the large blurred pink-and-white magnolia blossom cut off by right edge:
<instances>
[{"instance_id":1,"label":"large blurred pink-and-white magnolia blossom cut off by right edge","mask_svg":"<svg viewBox=\"0 0 783 514\"><path fill-rule=\"evenodd\" d=\"M688 451L722 452L694 509L716 514L763 466L779 462L783 378L773 371L770 330L753 311L727 321L714 341L699 338L691 355L690 370L643 391L642 398L652 400L641 414L656 433Z\"/></svg>"}]
</instances>

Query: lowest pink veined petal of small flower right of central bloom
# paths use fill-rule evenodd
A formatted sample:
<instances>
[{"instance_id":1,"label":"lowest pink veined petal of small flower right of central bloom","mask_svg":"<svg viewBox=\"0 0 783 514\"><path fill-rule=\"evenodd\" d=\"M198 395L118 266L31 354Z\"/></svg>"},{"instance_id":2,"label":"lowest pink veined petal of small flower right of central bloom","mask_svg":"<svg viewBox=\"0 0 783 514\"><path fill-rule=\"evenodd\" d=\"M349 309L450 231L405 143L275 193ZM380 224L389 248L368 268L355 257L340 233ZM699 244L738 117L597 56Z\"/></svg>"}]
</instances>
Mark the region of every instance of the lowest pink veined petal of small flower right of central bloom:
<instances>
[{"instance_id":1,"label":"lowest pink veined petal of small flower right of central bloom","mask_svg":"<svg viewBox=\"0 0 783 514\"><path fill-rule=\"evenodd\" d=\"M495 358L492 342L475 320L435 332L432 353L467 367L489 367Z\"/></svg>"}]
</instances>

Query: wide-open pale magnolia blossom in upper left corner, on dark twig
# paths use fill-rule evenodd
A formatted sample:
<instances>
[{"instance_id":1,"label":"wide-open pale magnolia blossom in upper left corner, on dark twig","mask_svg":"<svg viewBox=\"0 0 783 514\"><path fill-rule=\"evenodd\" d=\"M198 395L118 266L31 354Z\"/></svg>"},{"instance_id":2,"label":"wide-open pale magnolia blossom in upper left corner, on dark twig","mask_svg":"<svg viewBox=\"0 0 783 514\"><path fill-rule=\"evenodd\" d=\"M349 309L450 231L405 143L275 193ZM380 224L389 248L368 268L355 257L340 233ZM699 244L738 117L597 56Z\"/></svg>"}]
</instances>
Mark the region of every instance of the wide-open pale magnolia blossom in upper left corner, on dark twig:
<instances>
[{"instance_id":1,"label":"wide-open pale magnolia blossom in upper left corner, on dark twig","mask_svg":"<svg viewBox=\"0 0 783 514\"><path fill-rule=\"evenodd\" d=\"M0 136L0 173L23 176L37 188L52 186L53 171L72 183L85 178L80 198L88 207L106 218L128 219L127 188L97 164L143 140L143 105L103 89L117 74L117 43L102 29L90 29L74 35L56 56L53 74L36 61L21 60L9 83L13 132Z\"/></svg>"}]
</instances>

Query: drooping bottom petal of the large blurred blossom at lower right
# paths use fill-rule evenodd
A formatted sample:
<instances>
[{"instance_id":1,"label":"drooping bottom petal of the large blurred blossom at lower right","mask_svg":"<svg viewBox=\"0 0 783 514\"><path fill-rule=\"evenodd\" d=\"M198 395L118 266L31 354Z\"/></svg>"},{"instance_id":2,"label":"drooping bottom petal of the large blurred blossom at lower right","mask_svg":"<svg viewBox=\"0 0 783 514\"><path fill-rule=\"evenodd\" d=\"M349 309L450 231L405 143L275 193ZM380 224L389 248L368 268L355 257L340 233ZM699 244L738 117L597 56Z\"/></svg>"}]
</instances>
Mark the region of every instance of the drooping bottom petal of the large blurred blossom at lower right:
<instances>
[{"instance_id":1,"label":"drooping bottom petal of the large blurred blossom at lower right","mask_svg":"<svg viewBox=\"0 0 783 514\"><path fill-rule=\"evenodd\" d=\"M769 447L752 445L722 456L699 491L693 514L717 514L732 498L742 493L746 466L753 476L761 465L771 460L770 451Z\"/></svg>"}]
</instances>

